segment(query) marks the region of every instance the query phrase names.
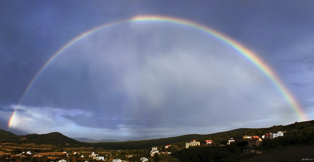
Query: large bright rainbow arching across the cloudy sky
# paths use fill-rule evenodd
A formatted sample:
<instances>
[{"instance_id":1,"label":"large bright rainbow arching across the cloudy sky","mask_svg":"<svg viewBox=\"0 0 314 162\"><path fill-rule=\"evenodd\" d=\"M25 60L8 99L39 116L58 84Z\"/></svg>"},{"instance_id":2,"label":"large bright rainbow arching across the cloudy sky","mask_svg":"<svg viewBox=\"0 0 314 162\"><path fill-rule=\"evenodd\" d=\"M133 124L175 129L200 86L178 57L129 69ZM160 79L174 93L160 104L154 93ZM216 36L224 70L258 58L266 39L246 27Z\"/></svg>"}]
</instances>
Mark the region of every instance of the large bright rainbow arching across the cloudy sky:
<instances>
[{"instance_id":1,"label":"large bright rainbow arching across the cloudy sky","mask_svg":"<svg viewBox=\"0 0 314 162\"><path fill-rule=\"evenodd\" d=\"M219 33L218 31L215 31L213 29L210 29L206 26L200 25L198 23L189 21L189 20L184 20L184 19L178 19L178 18L173 18L173 17L165 17L165 16L135 16L131 19L127 20L122 20L122 21L117 21L105 25L100 25L94 29L91 29L89 31L85 31L83 34L73 38L71 41L69 41L67 44L65 44L61 49L59 49L56 53L52 55L52 57L44 64L41 69L37 72L37 74L34 76L34 78L30 81L28 86L26 87L21 99L19 100L19 103L17 106L21 104L23 101L24 96L30 89L30 87L33 85L37 77L42 73L42 71L57 57L59 56L65 49L73 45L75 42L79 41L80 39L94 33L95 31L98 31L100 29L106 28L108 26L112 25L117 25L121 23L126 23L126 22L168 22L168 23L173 23L177 25L182 25L182 26L187 26L193 29L197 29L199 31L203 31L211 36L214 36L218 40L224 42L225 44L229 45L232 47L235 51L240 53L244 58L252 62L260 71L262 71L275 85L275 87L279 90L279 92L283 95L284 99L290 104L291 109L294 111L295 115L297 116L299 121L307 121L307 117L302 111L300 104L297 102L297 100L293 97L293 95L288 91L288 89L285 87L284 83L280 81L279 77L275 75L273 70L265 63L263 62L262 59L260 59L256 53L252 52L251 50L247 49L240 43L236 42L235 40L225 36L222 33ZM16 116L16 111L12 114L8 127L10 128L13 123L14 123L14 118Z\"/></svg>"}]
</instances>

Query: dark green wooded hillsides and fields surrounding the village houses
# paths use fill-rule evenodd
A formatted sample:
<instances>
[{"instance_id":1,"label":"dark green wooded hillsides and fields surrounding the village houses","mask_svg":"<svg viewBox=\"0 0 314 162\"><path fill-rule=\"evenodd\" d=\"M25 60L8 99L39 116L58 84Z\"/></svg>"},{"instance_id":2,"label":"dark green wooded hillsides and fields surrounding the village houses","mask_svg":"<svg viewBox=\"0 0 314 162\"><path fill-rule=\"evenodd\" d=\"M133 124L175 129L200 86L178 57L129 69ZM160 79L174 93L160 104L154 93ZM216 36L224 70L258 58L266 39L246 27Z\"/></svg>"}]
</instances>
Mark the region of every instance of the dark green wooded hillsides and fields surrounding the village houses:
<instances>
[{"instance_id":1,"label":"dark green wooded hillsides and fields surrounding the village houses","mask_svg":"<svg viewBox=\"0 0 314 162\"><path fill-rule=\"evenodd\" d=\"M286 131L283 137L274 139L263 139L263 146L254 147L254 149L262 151L262 154L243 154L243 150L248 149L248 141L241 139L242 135L258 135L262 136L265 133L275 133L277 131ZM236 142L231 142L230 145L225 145L227 139L233 137ZM54 161L60 159L68 159L70 162L86 161L90 152L99 152L100 155L105 156L107 160L111 158L119 158L126 161L139 162L140 158L148 158L148 162L172 162L172 161L269 161L271 160L284 160L301 161L302 158L313 159L312 153L314 152L314 120L306 122L295 122L287 126L272 126L269 128L242 128L232 131L208 134L208 135L184 135L179 137L161 138L154 140L132 141L132 142L100 142L100 143L83 143L75 141L71 138L63 136L61 133L53 132L48 134L30 134L26 136L17 136L11 132L0 130L1 141L18 141L20 143L36 143L36 144L51 144L54 143L57 147L52 149L41 148L9 148L10 143L3 143L0 148L2 153L11 153L10 155L0 156L0 161L49 161L48 158L53 158ZM200 146L190 146L185 148L185 143L196 139L201 142ZM205 144L205 140L212 140L214 143ZM49 141L50 140L50 141ZM72 141L73 140L73 141ZM17 142L17 143L18 143ZM94 148L87 148L81 154L70 154L74 151L69 148L65 150L62 147L73 146L94 146ZM169 148L165 145L170 144ZM101 146L101 147L100 147ZM171 154L155 154L150 157L150 150L152 146L157 146L160 152L171 152ZM116 150L104 150L104 148L116 148ZM129 149L133 148L133 149ZM142 148L142 149L138 149ZM120 149L120 150L117 150ZM127 149L123 150L122 149ZM31 152L50 152L42 157L31 155L14 156L23 151ZM55 152L53 152L55 151ZM62 151L69 151L69 157L62 154ZM57 152L61 152L58 154ZM84 152L84 153L83 153ZM51 155L52 154L52 155ZM84 157L80 157L81 155ZM133 155L133 157L127 157ZM91 159L89 159L91 160Z\"/></svg>"}]
</instances>

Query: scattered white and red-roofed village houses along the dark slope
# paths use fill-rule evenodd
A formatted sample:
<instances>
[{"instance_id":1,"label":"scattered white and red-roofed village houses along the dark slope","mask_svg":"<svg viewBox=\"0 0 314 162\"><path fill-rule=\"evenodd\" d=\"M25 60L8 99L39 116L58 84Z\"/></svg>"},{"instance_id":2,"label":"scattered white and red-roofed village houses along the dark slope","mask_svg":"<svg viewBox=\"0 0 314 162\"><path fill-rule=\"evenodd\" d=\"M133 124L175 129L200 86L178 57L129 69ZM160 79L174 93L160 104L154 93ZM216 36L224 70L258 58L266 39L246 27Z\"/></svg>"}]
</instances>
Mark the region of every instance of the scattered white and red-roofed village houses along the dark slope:
<instances>
[{"instance_id":1,"label":"scattered white and red-roofed village houses along the dark slope","mask_svg":"<svg viewBox=\"0 0 314 162\"><path fill-rule=\"evenodd\" d=\"M255 149L257 146L263 146L263 139L274 139L277 137L281 137L284 136L284 133L286 131L282 132L282 131L278 131L277 133L265 133L263 136L242 136L241 140L245 140L247 141L247 148L243 150L244 154L249 154L249 153L255 153L255 154L260 154L262 153L262 151L258 151L257 149ZM232 145L233 142L236 142L236 140L232 137L227 139L227 143L222 143L219 146L223 147L226 145ZM212 146L212 144L214 144L214 141L212 140L205 140L204 142L202 142L202 145L204 146ZM181 149L188 149L190 147L196 147L196 146L201 146L201 142L196 141L195 139L193 139L190 142L187 142L185 144L185 147L181 148ZM152 147L150 150L150 157L149 158L153 158L156 155L160 155L160 154L171 154L170 149L169 148L177 148L179 149L176 145L166 145L166 146L159 146L159 147ZM122 150L110 150L110 152L86 152L86 151L74 151L74 152L62 152L60 153L59 157L53 158L51 159L51 162L68 162L68 161L74 161L73 157L79 158L81 159L81 161L83 159L86 159L84 162L89 162L89 161L112 161L112 162L127 162L130 161L128 160L129 158L135 157L135 155L130 155L130 154L121 154L124 157L123 158L114 158L115 156L113 156L113 153L119 153L119 152L123 152ZM118 154L116 154L118 155ZM21 158L23 157L27 157L27 156L32 156L32 157L43 157L43 156L47 156L47 153L35 153L35 152L31 152L31 151L23 151L20 154L16 154L15 156L20 156ZM60 157L63 157L63 159L60 159ZM148 157L140 157L138 160L140 160L141 162L145 162L145 161L149 161ZM57 159L56 161L54 161L54 159ZM131 160L132 161L132 160ZM136 160L137 161L137 160Z\"/></svg>"}]
</instances>

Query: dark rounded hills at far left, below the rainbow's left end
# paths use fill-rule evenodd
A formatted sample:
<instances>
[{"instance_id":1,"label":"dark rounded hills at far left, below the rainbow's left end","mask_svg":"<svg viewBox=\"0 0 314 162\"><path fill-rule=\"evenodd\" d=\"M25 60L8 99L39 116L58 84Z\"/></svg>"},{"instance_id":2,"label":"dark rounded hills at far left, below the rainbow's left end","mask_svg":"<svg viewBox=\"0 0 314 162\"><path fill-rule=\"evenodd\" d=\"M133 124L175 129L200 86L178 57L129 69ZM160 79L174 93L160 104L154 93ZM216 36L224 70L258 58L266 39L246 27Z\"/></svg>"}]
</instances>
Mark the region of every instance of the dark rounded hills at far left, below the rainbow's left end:
<instances>
[{"instance_id":1,"label":"dark rounded hills at far left, below the rainbow's left end","mask_svg":"<svg viewBox=\"0 0 314 162\"><path fill-rule=\"evenodd\" d=\"M51 144L56 147L92 147L90 143L79 142L59 132L51 132L47 134L28 134L24 136L18 136L9 131L4 131L0 129L0 139L1 142L14 142L14 143L36 143L36 144Z\"/></svg>"}]
</instances>

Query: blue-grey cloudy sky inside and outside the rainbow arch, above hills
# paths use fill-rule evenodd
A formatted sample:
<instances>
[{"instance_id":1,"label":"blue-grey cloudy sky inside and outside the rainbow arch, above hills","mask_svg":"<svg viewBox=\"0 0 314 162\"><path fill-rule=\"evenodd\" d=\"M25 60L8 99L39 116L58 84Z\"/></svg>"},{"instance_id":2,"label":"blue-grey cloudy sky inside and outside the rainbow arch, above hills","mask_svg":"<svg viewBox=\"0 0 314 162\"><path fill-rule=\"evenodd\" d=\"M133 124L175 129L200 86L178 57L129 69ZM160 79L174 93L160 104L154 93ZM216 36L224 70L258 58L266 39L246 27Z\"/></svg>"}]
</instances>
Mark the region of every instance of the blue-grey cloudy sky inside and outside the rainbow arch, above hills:
<instances>
[{"instance_id":1,"label":"blue-grey cloudy sky inside and outside the rainbow arch, above hills","mask_svg":"<svg viewBox=\"0 0 314 162\"><path fill-rule=\"evenodd\" d=\"M149 139L298 121L233 48L160 15L214 29L257 53L314 119L312 1L1 1L0 128L17 134ZM14 123L8 122L17 112Z\"/></svg>"}]
</instances>

